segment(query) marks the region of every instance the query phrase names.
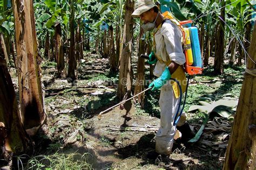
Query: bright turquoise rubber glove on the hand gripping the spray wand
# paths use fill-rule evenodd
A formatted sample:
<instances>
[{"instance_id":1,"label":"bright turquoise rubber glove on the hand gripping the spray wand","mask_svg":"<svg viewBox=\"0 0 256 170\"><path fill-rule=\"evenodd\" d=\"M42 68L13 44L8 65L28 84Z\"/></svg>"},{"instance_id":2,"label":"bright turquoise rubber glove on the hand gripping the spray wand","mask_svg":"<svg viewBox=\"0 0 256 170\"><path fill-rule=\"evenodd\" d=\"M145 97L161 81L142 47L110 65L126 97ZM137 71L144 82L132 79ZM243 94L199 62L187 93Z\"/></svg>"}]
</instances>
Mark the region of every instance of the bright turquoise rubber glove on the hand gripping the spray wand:
<instances>
[{"instance_id":1,"label":"bright turquoise rubber glove on the hand gripping the spray wand","mask_svg":"<svg viewBox=\"0 0 256 170\"><path fill-rule=\"evenodd\" d=\"M153 88L151 89L152 91L156 89L160 89L166 83L166 81L170 79L171 79L171 73L169 71L169 68L166 67L162 75L158 79L150 83L149 87L153 86Z\"/></svg>"}]
</instances>

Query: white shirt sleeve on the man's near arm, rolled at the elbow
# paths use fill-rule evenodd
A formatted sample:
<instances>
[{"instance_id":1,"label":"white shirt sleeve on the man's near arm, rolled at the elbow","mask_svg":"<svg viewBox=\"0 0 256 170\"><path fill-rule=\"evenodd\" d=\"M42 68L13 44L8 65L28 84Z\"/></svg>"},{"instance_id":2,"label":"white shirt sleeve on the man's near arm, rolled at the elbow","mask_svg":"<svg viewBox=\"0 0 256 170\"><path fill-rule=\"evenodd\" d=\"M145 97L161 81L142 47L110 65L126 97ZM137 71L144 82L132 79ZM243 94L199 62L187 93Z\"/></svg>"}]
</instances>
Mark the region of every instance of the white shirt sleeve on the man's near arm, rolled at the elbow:
<instances>
[{"instance_id":1,"label":"white shirt sleeve on the man's near arm, rolled at the elbow","mask_svg":"<svg viewBox=\"0 0 256 170\"><path fill-rule=\"evenodd\" d=\"M161 27L160 33L164 37L166 52L170 60L176 62L178 65L183 65L186 62L181 45L181 31L179 27L167 20Z\"/></svg>"}]
</instances>

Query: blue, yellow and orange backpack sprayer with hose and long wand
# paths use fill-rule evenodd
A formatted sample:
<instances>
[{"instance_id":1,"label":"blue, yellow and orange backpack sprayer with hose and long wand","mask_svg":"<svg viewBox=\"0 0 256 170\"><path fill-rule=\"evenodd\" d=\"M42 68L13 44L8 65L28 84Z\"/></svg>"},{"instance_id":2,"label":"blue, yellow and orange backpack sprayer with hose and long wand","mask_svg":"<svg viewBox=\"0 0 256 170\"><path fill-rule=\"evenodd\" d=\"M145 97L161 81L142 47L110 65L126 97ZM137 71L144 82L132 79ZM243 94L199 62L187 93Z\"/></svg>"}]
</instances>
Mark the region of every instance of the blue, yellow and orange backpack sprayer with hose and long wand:
<instances>
[{"instance_id":1,"label":"blue, yellow and orange backpack sprayer with hose and long wand","mask_svg":"<svg viewBox=\"0 0 256 170\"><path fill-rule=\"evenodd\" d=\"M165 15L165 16L171 16L171 15L168 12L167 15ZM174 19L172 18L171 21L173 22L173 20ZM176 21L173 23L177 24L178 22ZM188 83L190 81L190 76L196 75L196 74L202 74L202 70L203 70L197 27L192 27L192 20L185 20L183 22L179 22L179 24L181 25L180 28L181 28L181 31L183 32L183 37L184 37L183 45L184 45L184 54L185 54L185 58L186 58L186 62L184 64L184 69L185 69L185 72L188 74L188 80L187 80L187 84L186 84L186 91L185 91L183 107L180 109L181 101L182 101L182 97L183 97L181 86L180 86L180 83L178 80L171 78L171 80L177 82L179 90L180 90L179 104L178 104L177 112L176 112L174 122L173 122L174 126L179 122L180 116L183 112L183 109L184 109L184 106L186 103L187 88L188 88ZM149 56L147 56L145 54L140 55L140 57L149 59ZM131 100L134 97L137 97L138 95L144 93L145 91L147 91L151 88L152 87L147 88L144 91L140 92L139 94L137 94L125 101L122 101L109 109L106 109L106 110L100 112L98 115L98 119L100 120L102 118L102 114L104 114L105 112L117 107L120 104L123 104L123 103Z\"/></svg>"}]
</instances>

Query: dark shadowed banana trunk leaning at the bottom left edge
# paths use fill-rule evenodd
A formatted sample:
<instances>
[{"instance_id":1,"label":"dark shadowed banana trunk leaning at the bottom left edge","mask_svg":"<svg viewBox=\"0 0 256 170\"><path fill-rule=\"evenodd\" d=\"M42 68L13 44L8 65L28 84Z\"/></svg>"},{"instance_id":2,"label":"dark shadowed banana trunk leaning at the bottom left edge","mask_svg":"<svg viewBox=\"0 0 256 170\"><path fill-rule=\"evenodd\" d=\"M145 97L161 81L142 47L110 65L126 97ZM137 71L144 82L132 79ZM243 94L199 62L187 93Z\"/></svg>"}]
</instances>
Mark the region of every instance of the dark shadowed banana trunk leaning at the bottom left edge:
<instances>
[{"instance_id":1,"label":"dark shadowed banana trunk leaning at the bottom left edge","mask_svg":"<svg viewBox=\"0 0 256 170\"><path fill-rule=\"evenodd\" d=\"M0 52L0 162L11 161L12 153L18 155L31 151L29 139L22 125L14 85Z\"/></svg>"}]
</instances>

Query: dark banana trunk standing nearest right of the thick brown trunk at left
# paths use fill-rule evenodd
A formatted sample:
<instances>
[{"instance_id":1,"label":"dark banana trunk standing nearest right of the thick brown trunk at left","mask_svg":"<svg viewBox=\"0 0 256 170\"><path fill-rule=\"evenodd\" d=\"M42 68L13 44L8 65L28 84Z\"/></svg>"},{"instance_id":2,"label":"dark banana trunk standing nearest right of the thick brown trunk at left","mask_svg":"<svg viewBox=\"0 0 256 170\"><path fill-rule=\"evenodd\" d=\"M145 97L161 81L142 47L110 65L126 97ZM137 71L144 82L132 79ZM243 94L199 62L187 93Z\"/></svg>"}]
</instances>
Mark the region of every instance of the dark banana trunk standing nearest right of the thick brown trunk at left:
<instances>
[{"instance_id":1,"label":"dark banana trunk standing nearest right of the thick brown trunk at left","mask_svg":"<svg viewBox=\"0 0 256 170\"><path fill-rule=\"evenodd\" d=\"M62 71L65 67L64 62L64 49L62 44L62 28L60 27L60 23L56 23L55 25L55 51L56 51L56 61L57 61L57 76L62 76Z\"/></svg>"}]
</instances>

